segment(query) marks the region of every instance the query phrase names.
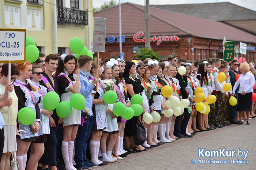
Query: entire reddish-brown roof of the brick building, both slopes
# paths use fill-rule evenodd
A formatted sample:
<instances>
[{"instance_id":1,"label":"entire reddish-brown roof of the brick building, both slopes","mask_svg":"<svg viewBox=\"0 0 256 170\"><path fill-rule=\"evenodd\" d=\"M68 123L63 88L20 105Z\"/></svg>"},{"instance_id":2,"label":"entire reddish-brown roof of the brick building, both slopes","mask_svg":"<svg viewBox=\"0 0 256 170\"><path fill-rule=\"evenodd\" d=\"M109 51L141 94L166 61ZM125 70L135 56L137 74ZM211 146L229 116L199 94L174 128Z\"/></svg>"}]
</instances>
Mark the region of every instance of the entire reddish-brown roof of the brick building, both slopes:
<instances>
[{"instance_id":1,"label":"entire reddish-brown roof of the brick building, both slopes","mask_svg":"<svg viewBox=\"0 0 256 170\"><path fill-rule=\"evenodd\" d=\"M121 5L122 35L133 36L145 31L144 6L125 3ZM95 12L95 17L106 18L106 35L119 34L118 6ZM192 35L198 37L256 43L256 36L230 25L199 17L150 7L150 35Z\"/></svg>"}]
</instances>

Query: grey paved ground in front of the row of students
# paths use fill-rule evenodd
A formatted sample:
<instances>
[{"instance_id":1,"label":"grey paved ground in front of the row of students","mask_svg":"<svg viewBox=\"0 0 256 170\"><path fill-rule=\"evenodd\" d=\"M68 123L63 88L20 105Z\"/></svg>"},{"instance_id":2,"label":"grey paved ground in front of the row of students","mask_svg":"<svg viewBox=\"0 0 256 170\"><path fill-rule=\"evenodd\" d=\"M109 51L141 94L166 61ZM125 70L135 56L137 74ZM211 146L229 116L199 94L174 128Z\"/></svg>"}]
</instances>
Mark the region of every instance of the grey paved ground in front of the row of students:
<instances>
[{"instance_id":1,"label":"grey paved ground in front of the row of students","mask_svg":"<svg viewBox=\"0 0 256 170\"><path fill-rule=\"evenodd\" d=\"M256 118L251 119L251 124L237 125L232 124L224 128L197 133L193 138L178 139L172 143L165 143L159 147L143 151L142 153L132 153L121 161L109 163L106 166L96 167L93 170L100 169L256 169ZM219 150L226 148L226 150L234 150L234 157L198 157L198 149L205 148L206 150ZM248 150L246 159L243 157L235 157L240 150ZM226 154L226 150L224 154ZM196 160L192 164L192 159ZM203 159L201 163L197 164L199 160ZM211 164L211 159L215 160L215 164ZM229 159L235 161L246 160L248 163L230 164ZM207 164L207 160L209 163ZM227 160L227 164L222 164L224 161L217 162L216 160ZM219 163L219 164L216 164Z\"/></svg>"}]
</instances>

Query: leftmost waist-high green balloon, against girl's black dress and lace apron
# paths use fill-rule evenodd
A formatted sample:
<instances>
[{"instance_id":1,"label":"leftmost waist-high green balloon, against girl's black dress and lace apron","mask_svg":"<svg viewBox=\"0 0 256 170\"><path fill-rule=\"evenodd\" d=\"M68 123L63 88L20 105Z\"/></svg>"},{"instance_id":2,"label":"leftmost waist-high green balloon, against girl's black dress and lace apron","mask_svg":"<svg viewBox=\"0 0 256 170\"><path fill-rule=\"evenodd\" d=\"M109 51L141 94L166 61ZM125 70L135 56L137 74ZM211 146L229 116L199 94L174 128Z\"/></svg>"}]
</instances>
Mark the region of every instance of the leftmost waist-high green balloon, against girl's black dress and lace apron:
<instances>
[{"instance_id":1,"label":"leftmost waist-high green balloon, against girl's black dress and lace apron","mask_svg":"<svg viewBox=\"0 0 256 170\"><path fill-rule=\"evenodd\" d=\"M18 112L18 120L22 124L30 125L35 121L35 112L29 107L23 107Z\"/></svg>"}]
</instances>

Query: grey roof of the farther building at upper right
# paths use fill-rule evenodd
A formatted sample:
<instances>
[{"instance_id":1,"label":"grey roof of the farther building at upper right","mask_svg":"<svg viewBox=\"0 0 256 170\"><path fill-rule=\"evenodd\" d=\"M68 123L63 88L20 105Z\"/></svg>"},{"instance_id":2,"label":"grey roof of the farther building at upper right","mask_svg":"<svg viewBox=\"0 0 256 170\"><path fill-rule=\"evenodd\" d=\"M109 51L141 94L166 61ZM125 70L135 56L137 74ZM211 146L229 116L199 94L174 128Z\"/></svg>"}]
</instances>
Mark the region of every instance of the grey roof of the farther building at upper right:
<instances>
[{"instance_id":1,"label":"grey roof of the farther building at upper right","mask_svg":"<svg viewBox=\"0 0 256 170\"><path fill-rule=\"evenodd\" d=\"M253 3L253 2L252 2ZM205 4L150 5L167 11L214 21L256 20L256 11L229 2Z\"/></svg>"}]
</instances>

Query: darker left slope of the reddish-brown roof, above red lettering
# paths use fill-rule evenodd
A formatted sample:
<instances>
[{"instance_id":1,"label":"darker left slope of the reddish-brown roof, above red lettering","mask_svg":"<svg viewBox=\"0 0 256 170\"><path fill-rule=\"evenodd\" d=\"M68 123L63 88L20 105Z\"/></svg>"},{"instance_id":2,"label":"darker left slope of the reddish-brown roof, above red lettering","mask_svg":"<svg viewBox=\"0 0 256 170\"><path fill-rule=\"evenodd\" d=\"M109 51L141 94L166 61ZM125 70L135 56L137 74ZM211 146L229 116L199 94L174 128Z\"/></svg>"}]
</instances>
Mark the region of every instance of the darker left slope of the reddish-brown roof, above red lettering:
<instances>
[{"instance_id":1,"label":"darker left slope of the reddish-brown roof, above red lettering","mask_svg":"<svg viewBox=\"0 0 256 170\"><path fill-rule=\"evenodd\" d=\"M119 35L119 13L118 6L95 12L94 17L106 18L106 35ZM125 3L121 5L122 35L133 36L136 32L145 32L144 9L134 4ZM189 35L180 28L173 26L158 17L150 15L150 36L157 35Z\"/></svg>"}]
</instances>

